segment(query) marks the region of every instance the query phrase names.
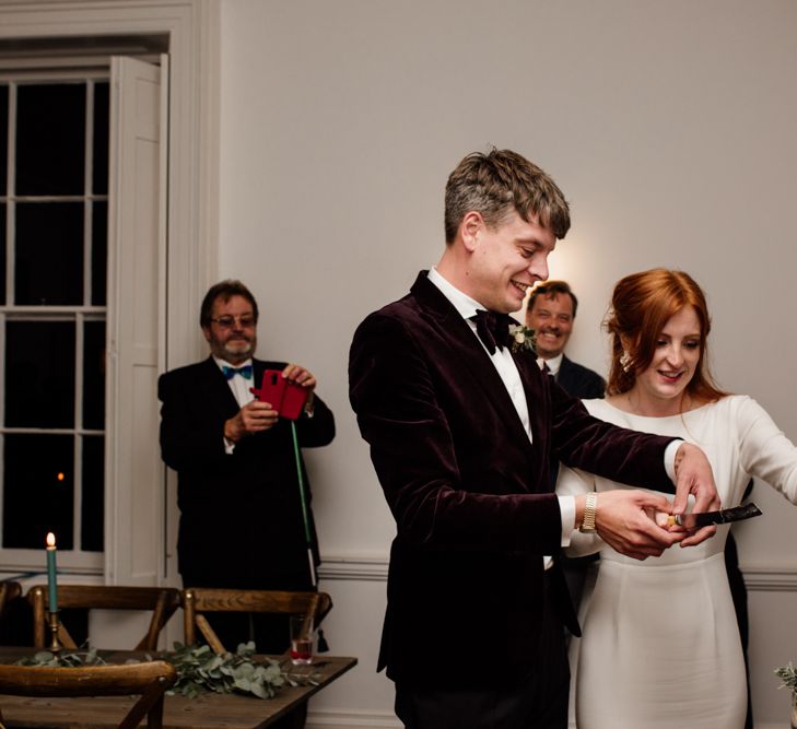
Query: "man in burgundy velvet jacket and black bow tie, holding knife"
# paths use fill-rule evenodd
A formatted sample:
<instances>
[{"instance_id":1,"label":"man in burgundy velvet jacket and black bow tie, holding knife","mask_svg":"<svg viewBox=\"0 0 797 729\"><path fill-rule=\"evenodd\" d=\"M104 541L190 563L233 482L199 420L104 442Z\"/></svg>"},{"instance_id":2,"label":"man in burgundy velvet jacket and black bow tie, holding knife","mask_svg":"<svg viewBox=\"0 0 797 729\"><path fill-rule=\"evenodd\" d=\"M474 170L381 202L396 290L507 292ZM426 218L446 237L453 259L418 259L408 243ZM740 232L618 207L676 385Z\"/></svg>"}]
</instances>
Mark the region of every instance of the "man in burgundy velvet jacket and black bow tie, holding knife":
<instances>
[{"instance_id":1,"label":"man in burgundy velvet jacket and black bow tie, holding knife","mask_svg":"<svg viewBox=\"0 0 797 729\"><path fill-rule=\"evenodd\" d=\"M643 491L556 497L550 455L616 481L717 506L694 446L595 420L509 344L509 311L548 278L570 227L562 192L508 150L470 154L446 186L446 247L402 299L368 316L351 345L350 399L396 519L378 670L409 729L567 724L566 624L551 555L575 528L637 558L683 539ZM666 468L669 463L669 470ZM668 475L668 472L670 475Z\"/></svg>"}]
</instances>

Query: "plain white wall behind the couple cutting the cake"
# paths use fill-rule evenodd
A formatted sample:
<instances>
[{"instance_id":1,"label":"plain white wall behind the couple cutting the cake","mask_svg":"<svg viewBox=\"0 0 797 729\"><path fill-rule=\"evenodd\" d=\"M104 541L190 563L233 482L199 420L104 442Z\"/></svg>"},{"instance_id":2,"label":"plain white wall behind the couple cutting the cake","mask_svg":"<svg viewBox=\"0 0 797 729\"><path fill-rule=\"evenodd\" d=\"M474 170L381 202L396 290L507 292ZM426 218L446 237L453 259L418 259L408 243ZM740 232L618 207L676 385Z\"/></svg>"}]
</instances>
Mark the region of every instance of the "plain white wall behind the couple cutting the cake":
<instances>
[{"instance_id":1,"label":"plain white wall behind the couple cutting the cake","mask_svg":"<svg viewBox=\"0 0 797 729\"><path fill-rule=\"evenodd\" d=\"M306 364L338 420L309 466L328 636L361 667L316 699L318 726L391 726L373 673L384 583L362 565L384 573L394 525L348 404L348 348L436 262L466 153L517 150L571 200L551 274L581 298L574 358L605 371L621 275L684 269L708 294L720 384L797 438L796 32L792 0L222 0L220 275L258 295L260 354ZM797 660L797 509L769 491L739 529L759 724L785 720L771 670Z\"/></svg>"}]
</instances>

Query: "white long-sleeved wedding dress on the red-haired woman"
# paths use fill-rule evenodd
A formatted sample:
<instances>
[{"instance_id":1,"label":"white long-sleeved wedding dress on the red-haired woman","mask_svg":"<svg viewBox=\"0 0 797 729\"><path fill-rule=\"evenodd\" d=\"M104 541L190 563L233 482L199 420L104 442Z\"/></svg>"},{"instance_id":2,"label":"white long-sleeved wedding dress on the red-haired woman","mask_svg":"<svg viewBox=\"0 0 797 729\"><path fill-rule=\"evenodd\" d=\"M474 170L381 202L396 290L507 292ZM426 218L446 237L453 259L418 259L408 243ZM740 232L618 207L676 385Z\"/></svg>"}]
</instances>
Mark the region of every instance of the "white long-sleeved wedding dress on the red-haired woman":
<instances>
[{"instance_id":1,"label":"white long-sleeved wedding dress on the red-haired woman","mask_svg":"<svg viewBox=\"0 0 797 729\"><path fill-rule=\"evenodd\" d=\"M669 418L632 415L605 400L585 405L623 427L699 445L723 507L739 504L751 475L797 502L797 448L749 397L729 396ZM626 487L562 467L556 492ZM578 729L745 726L745 661L723 554L728 529L644 562L598 537L574 536L569 554L600 551L591 597L582 604L584 637L571 642Z\"/></svg>"}]
</instances>

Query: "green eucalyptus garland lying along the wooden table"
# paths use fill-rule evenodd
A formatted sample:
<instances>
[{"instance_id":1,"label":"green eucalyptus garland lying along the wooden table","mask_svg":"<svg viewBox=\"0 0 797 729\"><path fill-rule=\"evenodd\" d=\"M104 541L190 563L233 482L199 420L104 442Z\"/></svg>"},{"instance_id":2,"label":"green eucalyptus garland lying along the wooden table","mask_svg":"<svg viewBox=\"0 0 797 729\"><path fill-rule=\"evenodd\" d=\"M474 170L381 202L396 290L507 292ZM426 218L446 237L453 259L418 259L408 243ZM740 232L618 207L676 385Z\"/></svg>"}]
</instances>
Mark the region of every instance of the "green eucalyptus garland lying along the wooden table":
<instances>
[{"instance_id":1,"label":"green eucalyptus garland lying along the wooden table","mask_svg":"<svg viewBox=\"0 0 797 729\"><path fill-rule=\"evenodd\" d=\"M285 670L290 660L256 658L255 644L242 643L235 652L214 654L207 645L185 646L174 644L174 651L160 654L145 660L165 660L177 669L177 681L166 692L189 698L214 692L219 694L243 693L258 698L273 698L285 684L291 686L318 685L318 673ZM128 663L141 661L130 659ZM57 654L39 650L32 658L17 661L20 666L47 666L74 668L78 666L104 666L106 661L96 648L65 650Z\"/></svg>"}]
</instances>

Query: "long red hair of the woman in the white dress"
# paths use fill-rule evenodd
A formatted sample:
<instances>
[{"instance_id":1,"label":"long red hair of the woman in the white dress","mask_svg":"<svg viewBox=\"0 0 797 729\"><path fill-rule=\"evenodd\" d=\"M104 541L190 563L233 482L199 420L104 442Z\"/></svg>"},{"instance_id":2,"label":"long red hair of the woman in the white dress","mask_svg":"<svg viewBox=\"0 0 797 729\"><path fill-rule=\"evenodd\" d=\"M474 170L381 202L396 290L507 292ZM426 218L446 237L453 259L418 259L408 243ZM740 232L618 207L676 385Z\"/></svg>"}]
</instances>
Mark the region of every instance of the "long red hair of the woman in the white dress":
<instances>
[{"instance_id":1,"label":"long red hair of the woman in the white dress","mask_svg":"<svg viewBox=\"0 0 797 729\"><path fill-rule=\"evenodd\" d=\"M609 395L628 392L634 386L636 373L644 372L653 362L667 321L687 306L694 307L701 332L700 360L687 392L702 402L727 395L715 385L706 362L712 322L703 291L688 273L660 268L626 275L614 286L603 322L611 336Z\"/></svg>"}]
</instances>

